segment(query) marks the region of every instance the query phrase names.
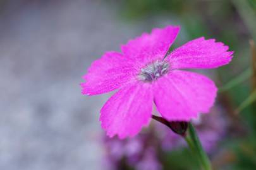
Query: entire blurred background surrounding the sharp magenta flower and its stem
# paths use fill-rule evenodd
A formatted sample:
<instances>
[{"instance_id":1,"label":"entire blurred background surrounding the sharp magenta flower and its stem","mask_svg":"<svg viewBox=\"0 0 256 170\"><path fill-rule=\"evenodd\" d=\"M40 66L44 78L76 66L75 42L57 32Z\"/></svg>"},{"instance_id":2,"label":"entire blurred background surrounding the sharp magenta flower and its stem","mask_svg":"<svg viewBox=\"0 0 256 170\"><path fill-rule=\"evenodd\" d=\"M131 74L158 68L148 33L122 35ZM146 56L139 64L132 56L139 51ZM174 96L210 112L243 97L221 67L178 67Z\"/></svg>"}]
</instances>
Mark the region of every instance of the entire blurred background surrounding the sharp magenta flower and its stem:
<instances>
[{"instance_id":1,"label":"entire blurred background surrounding the sharp magenta flower and its stem","mask_svg":"<svg viewBox=\"0 0 256 170\"><path fill-rule=\"evenodd\" d=\"M256 169L256 0L0 0L0 169L200 169L158 122L108 139L99 110L111 94L80 94L93 60L166 25L181 25L174 48L204 36L235 51L202 71L219 94L193 123L214 169Z\"/></svg>"}]
</instances>

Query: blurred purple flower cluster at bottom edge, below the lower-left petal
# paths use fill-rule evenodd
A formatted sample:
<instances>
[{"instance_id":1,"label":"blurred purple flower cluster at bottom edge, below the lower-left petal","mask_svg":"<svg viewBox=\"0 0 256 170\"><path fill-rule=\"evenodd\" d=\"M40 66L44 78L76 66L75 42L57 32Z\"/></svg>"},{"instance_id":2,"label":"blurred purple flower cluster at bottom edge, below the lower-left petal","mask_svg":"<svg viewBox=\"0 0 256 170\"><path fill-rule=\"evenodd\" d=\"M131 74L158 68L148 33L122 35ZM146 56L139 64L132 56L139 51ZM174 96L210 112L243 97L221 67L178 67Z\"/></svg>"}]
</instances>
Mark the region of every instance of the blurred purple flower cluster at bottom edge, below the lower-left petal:
<instances>
[{"instance_id":1,"label":"blurred purple flower cluster at bottom edge, below the lower-left petal","mask_svg":"<svg viewBox=\"0 0 256 170\"><path fill-rule=\"evenodd\" d=\"M102 166L106 169L161 170L161 162L157 157L158 139L152 139L152 132L140 133L134 138L119 140L104 135L105 149Z\"/></svg>"}]
</instances>

